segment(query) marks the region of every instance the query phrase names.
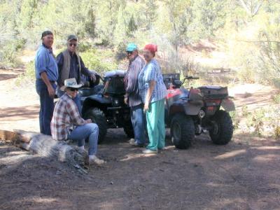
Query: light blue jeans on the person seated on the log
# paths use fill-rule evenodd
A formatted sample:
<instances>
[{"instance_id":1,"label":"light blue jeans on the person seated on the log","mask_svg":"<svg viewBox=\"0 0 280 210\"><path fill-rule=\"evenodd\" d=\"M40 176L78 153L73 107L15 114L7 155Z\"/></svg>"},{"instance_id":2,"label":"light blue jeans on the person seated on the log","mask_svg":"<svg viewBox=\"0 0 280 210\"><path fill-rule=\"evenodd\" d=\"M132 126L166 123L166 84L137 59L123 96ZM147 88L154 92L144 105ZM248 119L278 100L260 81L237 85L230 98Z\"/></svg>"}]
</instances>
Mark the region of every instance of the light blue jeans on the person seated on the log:
<instances>
[{"instance_id":1,"label":"light blue jeans on the person seated on the log","mask_svg":"<svg viewBox=\"0 0 280 210\"><path fill-rule=\"evenodd\" d=\"M87 123L85 125L77 126L68 139L78 141L78 146L85 145L85 139L88 138L90 148L88 148L88 155L95 155L97 153L97 141L98 141L99 129L95 123Z\"/></svg>"}]
</instances>

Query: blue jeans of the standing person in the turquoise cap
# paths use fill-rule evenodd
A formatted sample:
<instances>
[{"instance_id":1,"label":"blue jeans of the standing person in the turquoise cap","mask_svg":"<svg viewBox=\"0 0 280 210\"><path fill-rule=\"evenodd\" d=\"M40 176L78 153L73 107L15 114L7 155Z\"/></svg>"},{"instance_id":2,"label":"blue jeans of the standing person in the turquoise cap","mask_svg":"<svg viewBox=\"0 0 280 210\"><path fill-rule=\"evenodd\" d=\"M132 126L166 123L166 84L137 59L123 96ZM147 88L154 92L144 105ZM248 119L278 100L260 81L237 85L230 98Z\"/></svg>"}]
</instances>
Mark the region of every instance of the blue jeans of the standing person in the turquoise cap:
<instances>
[{"instance_id":1,"label":"blue jeans of the standing person in the turquoise cap","mask_svg":"<svg viewBox=\"0 0 280 210\"><path fill-rule=\"evenodd\" d=\"M143 104L130 107L130 116L134 130L134 139L137 144L145 144Z\"/></svg>"}]
</instances>

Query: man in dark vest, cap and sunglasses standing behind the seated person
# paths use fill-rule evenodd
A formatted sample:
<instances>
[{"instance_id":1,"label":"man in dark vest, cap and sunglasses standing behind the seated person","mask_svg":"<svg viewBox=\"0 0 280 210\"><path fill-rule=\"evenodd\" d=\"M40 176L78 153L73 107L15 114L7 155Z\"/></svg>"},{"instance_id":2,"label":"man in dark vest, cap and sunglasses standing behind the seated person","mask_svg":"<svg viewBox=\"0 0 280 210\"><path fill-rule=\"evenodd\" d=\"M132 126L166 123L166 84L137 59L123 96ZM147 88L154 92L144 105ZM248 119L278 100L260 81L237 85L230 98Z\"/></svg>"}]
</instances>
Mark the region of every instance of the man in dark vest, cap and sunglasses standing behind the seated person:
<instances>
[{"instance_id":1,"label":"man in dark vest, cap and sunglasses standing behind the seated person","mask_svg":"<svg viewBox=\"0 0 280 210\"><path fill-rule=\"evenodd\" d=\"M85 64L83 63L83 59L78 55L77 52L78 46L78 38L75 35L70 35L67 38L67 49L57 55L57 66L58 66L58 88L57 95L61 97L64 92L60 90L62 87L64 80L68 78L76 78L78 84L80 84L80 79L82 74L90 77L92 82L96 80L94 72L89 71ZM77 97L73 99L77 106L78 111L81 113L81 105L80 105L80 97L77 94Z\"/></svg>"}]
</instances>

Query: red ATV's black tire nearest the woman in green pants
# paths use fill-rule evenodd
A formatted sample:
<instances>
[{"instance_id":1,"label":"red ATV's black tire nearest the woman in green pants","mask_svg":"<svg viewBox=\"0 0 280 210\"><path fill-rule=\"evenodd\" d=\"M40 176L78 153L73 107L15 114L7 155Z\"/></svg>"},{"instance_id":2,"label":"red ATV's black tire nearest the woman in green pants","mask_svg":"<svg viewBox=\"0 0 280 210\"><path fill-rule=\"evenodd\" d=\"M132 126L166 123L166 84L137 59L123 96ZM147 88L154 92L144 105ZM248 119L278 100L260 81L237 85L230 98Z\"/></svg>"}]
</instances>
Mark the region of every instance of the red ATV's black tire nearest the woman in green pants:
<instances>
[{"instance_id":1,"label":"red ATV's black tire nearest the woman in green pants","mask_svg":"<svg viewBox=\"0 0 280 210\"><path fill-rule=\"evenodd\" d=\"M172 142L176 148L186 149L195 138L195 124L189 116L176 114L171 123Z\"/></svg>"}]
</instances>

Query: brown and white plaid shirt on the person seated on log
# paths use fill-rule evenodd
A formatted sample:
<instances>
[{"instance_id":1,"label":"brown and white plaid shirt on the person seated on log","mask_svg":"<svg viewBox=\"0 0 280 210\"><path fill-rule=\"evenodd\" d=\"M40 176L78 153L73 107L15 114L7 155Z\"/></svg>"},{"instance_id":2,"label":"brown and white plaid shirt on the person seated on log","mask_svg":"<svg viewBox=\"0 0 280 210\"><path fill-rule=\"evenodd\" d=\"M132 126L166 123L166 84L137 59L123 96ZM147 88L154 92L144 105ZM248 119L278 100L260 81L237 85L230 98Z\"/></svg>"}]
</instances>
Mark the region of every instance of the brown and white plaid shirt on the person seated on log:
<instances>
[{"instance_id":1,"label":"brown and white plaid shirt on the person seated on log","mask_svg":"<svg viewBox=\"0 0 280 210\"><path fill-rule=\"evenodd\" d=\"M50 130L52 139L66 140L73 125L84 125L85 120L80 117L78 108L73 99L66 93L59 98L53 111Z\"/></svg>"}]
</instances>

